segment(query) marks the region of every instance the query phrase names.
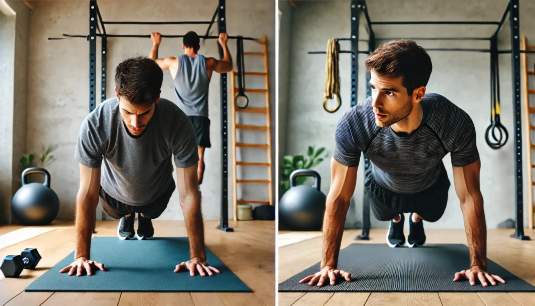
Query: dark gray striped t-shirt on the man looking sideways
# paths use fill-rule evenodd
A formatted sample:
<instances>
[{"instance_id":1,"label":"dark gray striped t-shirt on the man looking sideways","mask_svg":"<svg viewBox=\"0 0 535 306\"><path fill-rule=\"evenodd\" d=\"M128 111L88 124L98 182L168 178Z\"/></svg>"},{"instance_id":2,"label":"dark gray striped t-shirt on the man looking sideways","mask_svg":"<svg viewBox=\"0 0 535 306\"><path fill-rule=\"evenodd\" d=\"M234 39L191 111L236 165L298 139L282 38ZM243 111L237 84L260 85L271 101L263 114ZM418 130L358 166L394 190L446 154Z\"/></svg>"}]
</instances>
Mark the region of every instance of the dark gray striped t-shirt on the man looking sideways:
<instances>
[{"instance_id":1,"label":"dark gray striped t-shirt on the man looking sideways","mask_svg":"<svg viewBox=\"0 0 535 306\"><path fill-rule=\"evenodd\" d=\"M372 98L346 110L338 122L333 158L357 167L361 152L371 161L373 178L386 189L416 193L433 185L440 163L451 152L452 166L477 161L476 130L470 116L444 96L426 93L422 123L409 136L379 128Z\"/></svg>"}]
</instances>

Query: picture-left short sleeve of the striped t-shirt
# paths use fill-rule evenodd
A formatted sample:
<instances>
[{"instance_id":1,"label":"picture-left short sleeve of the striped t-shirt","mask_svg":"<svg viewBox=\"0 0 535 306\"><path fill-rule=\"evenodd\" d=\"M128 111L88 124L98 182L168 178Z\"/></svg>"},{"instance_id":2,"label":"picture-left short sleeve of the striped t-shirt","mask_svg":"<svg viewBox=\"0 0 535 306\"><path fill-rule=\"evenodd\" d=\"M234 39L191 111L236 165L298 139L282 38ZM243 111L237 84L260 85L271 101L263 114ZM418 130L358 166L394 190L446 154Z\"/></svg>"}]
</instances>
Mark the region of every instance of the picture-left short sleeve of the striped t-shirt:
<instances>
[{"instance_id":1,"label":"picture-left short sleeve of the striped t-shirt","mask_svg":"<svg viewBox=\"0 0 535 306\"><path fill-rule=\"evenodd\" d=\"M334 135L335 145L333 158L347 167L358 167L361 151L355 142L355 133L349 120L349 112L342 115L338 121Z\"/></svg>"}]
</instances>

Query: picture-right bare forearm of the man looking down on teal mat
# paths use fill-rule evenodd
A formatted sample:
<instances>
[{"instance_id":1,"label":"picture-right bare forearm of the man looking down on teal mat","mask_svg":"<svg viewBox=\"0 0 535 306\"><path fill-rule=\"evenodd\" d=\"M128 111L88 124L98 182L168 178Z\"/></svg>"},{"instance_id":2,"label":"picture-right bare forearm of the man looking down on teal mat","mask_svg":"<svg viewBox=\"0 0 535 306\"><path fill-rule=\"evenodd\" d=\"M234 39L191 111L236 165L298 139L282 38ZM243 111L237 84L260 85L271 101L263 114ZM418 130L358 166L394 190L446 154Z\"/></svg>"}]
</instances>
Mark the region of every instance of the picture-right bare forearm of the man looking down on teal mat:
<instances>
[{"instance_id":1,"label":"picture-right bare forearm of the man looking down on teal mat","mask_svg":"<svg viewBox=\"0 0 535 306\"><path fill-rule=\"evenodd\" d=\"M198 192L181 201L186 230L189 237L190 258L202 257L206 259L204 250L204 223L201 212L201 199Z\"/></svg>"}]
</instances>

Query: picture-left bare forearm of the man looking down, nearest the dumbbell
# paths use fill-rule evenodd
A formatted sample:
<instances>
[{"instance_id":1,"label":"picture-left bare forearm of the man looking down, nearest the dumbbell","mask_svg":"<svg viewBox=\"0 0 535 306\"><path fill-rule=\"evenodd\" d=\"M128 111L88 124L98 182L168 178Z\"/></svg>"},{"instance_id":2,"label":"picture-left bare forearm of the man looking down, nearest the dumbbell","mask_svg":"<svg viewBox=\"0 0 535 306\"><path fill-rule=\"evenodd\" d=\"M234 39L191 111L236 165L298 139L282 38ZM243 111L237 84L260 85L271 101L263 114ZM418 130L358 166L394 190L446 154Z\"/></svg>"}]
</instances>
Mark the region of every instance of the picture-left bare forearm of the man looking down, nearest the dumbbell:
<instances>
[{"instance_id":1,"label":"picture-left bare forearm of the man looking down, nearest the dumbbell","mask_svg":"<svg viewBox=\"0 0 535 306\"><path fill-rule=\"evenodd\" d=\"M91 255L91 233L95 222L98 199L77 198L75 213L76 249L74 259Z\"/></svg>"}]
</instances>

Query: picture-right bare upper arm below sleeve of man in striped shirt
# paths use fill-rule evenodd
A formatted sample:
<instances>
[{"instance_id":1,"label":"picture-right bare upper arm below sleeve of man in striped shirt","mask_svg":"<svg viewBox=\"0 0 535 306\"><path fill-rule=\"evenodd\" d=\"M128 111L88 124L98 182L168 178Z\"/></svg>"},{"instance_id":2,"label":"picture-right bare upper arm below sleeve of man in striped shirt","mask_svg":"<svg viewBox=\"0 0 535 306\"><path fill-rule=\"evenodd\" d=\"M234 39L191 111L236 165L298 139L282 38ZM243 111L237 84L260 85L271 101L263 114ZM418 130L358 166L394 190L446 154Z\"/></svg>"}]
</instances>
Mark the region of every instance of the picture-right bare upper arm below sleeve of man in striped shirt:
<instances>
[{"instance_id":1,"label":"picture-right bare upper arm below sleeve of man in striped shirt","mask_svg":"<svg viewBox=\"0 0 535 306\"><path fill-rule=\"evenodd\" d=\"M461 204L467 203L470 198L482 197L479 188L480 169L481 160L479 158L469 165L453 167L455 192ZM474 203L478 203L478 201L474 201Z\"/></svg>"}]
</instances>

